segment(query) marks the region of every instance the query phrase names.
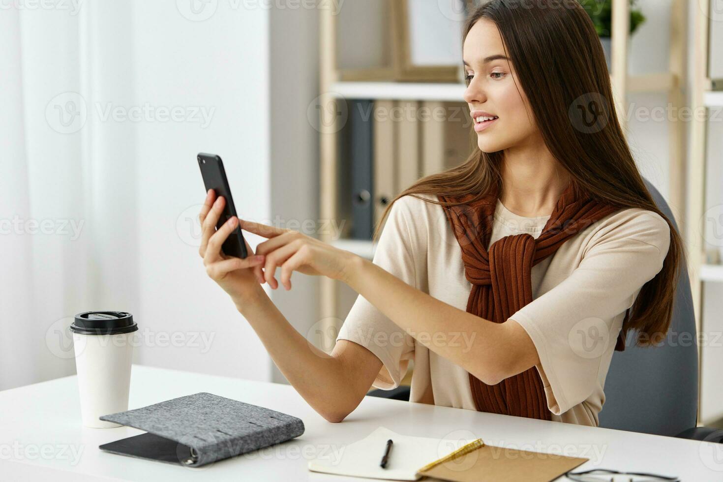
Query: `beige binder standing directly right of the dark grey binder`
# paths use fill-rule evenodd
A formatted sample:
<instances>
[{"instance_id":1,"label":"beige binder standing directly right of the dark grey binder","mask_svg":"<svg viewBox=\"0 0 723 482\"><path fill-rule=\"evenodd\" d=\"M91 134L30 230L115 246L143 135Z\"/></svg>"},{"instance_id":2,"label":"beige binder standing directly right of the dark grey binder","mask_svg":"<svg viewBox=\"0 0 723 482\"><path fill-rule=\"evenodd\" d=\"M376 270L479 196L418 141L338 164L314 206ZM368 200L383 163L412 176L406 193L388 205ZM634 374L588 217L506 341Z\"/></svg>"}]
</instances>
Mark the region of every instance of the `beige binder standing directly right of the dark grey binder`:
<instances>
[{"instance_id":1,"label":"beige binder standing directly right of the dark grey binder","mask_svg":"<svg viewBox=\"0 0 723 482\"><path fill-rule=\"evenodd\" d=\"M374 224L397 193L395 184L396 111L394 100L375 100L374 106Z\"/></svg>"}]
</instances>

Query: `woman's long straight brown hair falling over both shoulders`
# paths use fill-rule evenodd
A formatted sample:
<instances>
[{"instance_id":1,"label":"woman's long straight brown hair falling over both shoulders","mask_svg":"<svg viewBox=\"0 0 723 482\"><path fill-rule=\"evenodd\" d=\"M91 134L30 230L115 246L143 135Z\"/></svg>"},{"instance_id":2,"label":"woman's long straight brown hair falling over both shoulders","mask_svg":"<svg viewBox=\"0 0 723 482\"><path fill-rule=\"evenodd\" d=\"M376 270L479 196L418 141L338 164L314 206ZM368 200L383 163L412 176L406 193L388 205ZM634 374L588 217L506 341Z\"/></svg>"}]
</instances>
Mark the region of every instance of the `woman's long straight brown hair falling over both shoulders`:
<instances>
[{"instance_id":1,"label":"woman's long straight brown hair falling over both shoulders","mask_svg":"<svg viewBox=\"0 0 723 482\"><path fill-rule=\"evenodd\" d=\"M623 335L636 330L637 345L659 343L670 326L680 265L685 262L683 241L656 206L630 153L615 113L602 45L589 15L577 0L489 0L467 17L463 41L480 19L491 20L500 30L505 55L515 66L536 125L549 151L570 173L573 188L621 209L656 212L667 221L670 246L662 270L643 285L623 327ZM609 113L598 129L573 124L569 108L585 96L602 103ZM373 238L378 238L394 202L407 194L453 206L462 203L443 203L415 194L474 194L478 199L492 183L497 183L501 192L503 156L502 151L475 148L461 165L419 179L386 207Z\"/></svg>"}]
</instances>

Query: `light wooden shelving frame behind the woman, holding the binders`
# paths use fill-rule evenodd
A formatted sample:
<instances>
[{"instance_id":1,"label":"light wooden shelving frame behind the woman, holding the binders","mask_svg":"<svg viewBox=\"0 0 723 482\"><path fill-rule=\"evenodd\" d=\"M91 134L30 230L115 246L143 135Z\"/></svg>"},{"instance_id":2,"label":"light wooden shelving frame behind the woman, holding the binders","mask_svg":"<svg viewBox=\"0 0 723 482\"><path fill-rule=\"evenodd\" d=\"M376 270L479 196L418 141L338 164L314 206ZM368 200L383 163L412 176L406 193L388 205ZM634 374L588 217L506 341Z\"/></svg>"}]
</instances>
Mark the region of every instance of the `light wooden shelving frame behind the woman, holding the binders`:
<instances>
[{"instance_id":1,"label":"light wooden shelving frame behind the woman, holding the binders","mask_svg":"<svg viewBox=\"0 0 723 482\"><path fill-rule=\"evenodd\" d=\"M350 4L349 0L347 3ZM688 7L688 0L672 0L669 68L667 72L656 72L652 74L630 75L628 72L628 32L630 10L627 0L613 0L612 19L612 69L610 80L620 123L626 131L625 108L628 104L625 100L628 93L633 92L662 92L667 93L668 102L680 108L684 105L683 85L685 85L686 71L686 25L687 17L685 9ZM356 82L344 80L346 73L350 72L348 66L340 67L338 53L341 35L346 32L344 27L339 26L338 15L333 14L329 9L320 10L320 105L332 106L335 100L348 99L373 99L373 100L395 100L395 101L443 101L463 102L465 85L458 82L386 82L386 81L365 81ZM373 30L373 29L372 29ZM366 42L382 43L380 48L385 48L384 39L365 38ZM379 47L379 46L377 46ZM345 59L346 60L346 59ZM711 100L712 101L712 100ZM320 216L322 219L338 220L339 211L339 188L338 176L338 119L333 115L332 108L320 109ZM685 178L685 123L680 121L671 122L669 128L669 178L671 185L669 189L669 205L671 206L676 219L680 220L682 212L680 208L685 200L683 179ZM331 239L328 235L320 236L322 241L338 246L341 249L359 254L359 256L372 259L374 255L374 244L372 241L359 241L348 239ZM334 280L322 277L320 279L320 317L330 319L342 319L346 316L350 306L340 306L338 303L338 291L340 286ZM328 332L324 330L324 332ZM325 343L325 346L332 346Z\"/></svg>"}]
</instances>

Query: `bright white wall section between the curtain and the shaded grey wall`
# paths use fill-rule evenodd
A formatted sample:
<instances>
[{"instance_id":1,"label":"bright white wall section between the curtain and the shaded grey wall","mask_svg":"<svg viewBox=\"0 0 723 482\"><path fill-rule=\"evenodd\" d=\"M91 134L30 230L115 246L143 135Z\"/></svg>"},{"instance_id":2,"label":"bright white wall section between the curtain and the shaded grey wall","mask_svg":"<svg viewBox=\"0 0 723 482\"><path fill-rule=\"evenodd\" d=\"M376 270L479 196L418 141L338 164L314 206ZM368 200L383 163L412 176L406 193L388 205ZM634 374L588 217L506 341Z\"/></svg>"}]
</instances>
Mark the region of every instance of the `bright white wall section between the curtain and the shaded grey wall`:
<instances>
[{"instance_id":1,"label":"bright white wall section between the curtain and the shaded grey wall","mask_svg":"<svg viewBox=\"0 0 723 482\"><path fill-rule=\"evenodd\" d=\"M268 380L268 354L205 274L197 246L184 241L176 221L189 208L197 212L205 197L197 152L221 155L241 217L269 217L269 12L218 2L208 20L193 21L175 2L134 1L132 10L127 40L133 44L134 101L213 110L208 126L137 125L131 161L138 183L138 322L184 333L189 345L162 347L158 340L142 347L140 363ZM199 339L192 345L195 332L212 340L206 353Z\"/></svg>"}]
</instances>

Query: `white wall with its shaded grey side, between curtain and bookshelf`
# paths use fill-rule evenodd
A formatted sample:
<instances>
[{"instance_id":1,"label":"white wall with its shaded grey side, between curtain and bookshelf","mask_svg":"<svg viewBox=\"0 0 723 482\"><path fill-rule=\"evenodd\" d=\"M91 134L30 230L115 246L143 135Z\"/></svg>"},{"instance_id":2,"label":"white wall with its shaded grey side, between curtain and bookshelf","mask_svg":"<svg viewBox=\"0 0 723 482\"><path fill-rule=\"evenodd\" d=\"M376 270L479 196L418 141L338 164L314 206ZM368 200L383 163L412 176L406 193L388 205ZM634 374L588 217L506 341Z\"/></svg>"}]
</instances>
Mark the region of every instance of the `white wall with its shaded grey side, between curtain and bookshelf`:
<instances>
[{"instance_id":1,"label":"white wall with its shaded grey side, between curtain and bookshelf","mask_svg":"<svg viewBox=\"0 0 723 482\"><path fill-rule=\"evenodd\" d=\"M179 215L204 197L196 152L224 159L241 218L281 220L281 227L317 219L318 134L307 108L318 95L318 12L237 5L220 1L207 20L193 21L172 3L133 4L136 102L215 109L206 127L137 126L139 321L154 330L214 336L207 353L145 346L140 361L283 381L249 324L205 275L197 247L176 232ZM264 241L247 238L252 247ZM292 279L290 292L265 286L305 335L317 318L318 280L299 273Z\"/></svg>"}]
</instances>

